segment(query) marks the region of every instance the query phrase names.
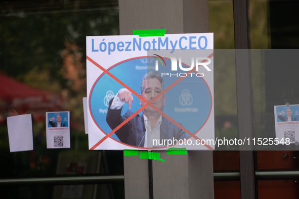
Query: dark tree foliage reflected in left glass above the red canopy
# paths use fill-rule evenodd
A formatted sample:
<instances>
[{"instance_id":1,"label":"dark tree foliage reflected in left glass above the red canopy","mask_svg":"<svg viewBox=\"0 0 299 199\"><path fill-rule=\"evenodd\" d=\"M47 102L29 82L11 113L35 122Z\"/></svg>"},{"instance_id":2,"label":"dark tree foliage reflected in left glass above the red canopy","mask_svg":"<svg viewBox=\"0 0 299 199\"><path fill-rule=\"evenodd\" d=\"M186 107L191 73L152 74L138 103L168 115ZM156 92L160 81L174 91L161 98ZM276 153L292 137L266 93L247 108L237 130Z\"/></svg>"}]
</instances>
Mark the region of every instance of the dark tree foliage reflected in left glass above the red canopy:
<instances>
[{"instance_id":1,"label":"dark tree foliage reflected in left glass above the red canopy","mask_svg":"<svg viewBox=\"0 0 299 199\"><path fill-rule=\"evenodd\" d=\"M118 12L49 15L2 17L0 64L6 74L27 85L59 92L73 127L83 130L86 36L119 34Z\"/></svg>"}]
</instances>

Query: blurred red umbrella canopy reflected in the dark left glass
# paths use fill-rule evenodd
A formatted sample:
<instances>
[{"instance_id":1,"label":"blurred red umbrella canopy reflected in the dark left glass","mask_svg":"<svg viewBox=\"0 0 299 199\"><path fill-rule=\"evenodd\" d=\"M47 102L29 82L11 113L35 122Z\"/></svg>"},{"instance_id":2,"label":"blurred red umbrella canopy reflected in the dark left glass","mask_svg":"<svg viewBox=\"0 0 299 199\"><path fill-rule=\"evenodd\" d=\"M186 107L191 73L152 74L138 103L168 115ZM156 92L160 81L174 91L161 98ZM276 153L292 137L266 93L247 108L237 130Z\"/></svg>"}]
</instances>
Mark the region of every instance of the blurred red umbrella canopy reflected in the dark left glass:
<instances>
[{"instance_id":1,"label":"blurred red umbrella canopy reflected in the dark left glass","mask_svg":"<svg viewBox=\"0 0 299 199\"><path fill-rule=\"evenodd\" d=\"M0 110L15 109L20 113L39 113L44 119L45 112L61 108L59 93L32 88L0 73Z\"/></svg>"}]
</instances>

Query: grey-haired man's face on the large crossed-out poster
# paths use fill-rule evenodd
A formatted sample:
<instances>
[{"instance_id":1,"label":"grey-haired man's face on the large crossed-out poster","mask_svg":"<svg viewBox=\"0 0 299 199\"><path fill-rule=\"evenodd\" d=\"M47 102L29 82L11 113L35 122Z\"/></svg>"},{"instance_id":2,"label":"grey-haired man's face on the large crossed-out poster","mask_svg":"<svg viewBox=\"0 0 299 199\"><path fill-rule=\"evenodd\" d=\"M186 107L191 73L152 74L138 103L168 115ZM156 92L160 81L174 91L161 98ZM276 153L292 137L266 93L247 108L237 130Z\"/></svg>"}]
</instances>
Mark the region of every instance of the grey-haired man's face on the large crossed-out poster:
<instances>
[{"instance_id":1,"label":"grey-haired man's face on the large crossed-out poster","mask_svg":"<svg viewBox=\"0 0 299 199\"><path fill-rule=\"evenodd\" d=\"M161 82L157 78L150 78L144 82L144 89L141 96L143 96L143 98L147 99L147 101L149 102L160 92L162 92ZM152 104L161 111L163 111L163 108L165 106L165 95L161 95ZM145 103L142 100L140 100L140 106L143 105L145 105ZM156 113L156 111L149 105L147 106L147 108L145 108L145 112Z\"/></svg>"}]
</instances>

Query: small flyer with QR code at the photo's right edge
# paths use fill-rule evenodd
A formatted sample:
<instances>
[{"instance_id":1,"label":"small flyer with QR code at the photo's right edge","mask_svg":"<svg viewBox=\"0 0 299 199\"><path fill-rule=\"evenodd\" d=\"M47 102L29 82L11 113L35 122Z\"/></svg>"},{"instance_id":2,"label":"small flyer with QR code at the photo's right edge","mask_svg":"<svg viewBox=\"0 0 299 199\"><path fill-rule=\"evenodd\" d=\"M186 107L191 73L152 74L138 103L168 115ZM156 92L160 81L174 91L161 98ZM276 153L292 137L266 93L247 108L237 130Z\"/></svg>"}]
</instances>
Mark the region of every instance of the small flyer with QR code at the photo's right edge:
<instances>
[{"instance_id":1,"label":"small flyer with QR code at the photo's right edge","mask_svg":"<svg viewBox=\"0 0 299 199\"><path fill-rule=\"evenodd\" d=\"M299 140L299 105L274 106L275 134L289 143Z\"/></svg>"}]
</instances>

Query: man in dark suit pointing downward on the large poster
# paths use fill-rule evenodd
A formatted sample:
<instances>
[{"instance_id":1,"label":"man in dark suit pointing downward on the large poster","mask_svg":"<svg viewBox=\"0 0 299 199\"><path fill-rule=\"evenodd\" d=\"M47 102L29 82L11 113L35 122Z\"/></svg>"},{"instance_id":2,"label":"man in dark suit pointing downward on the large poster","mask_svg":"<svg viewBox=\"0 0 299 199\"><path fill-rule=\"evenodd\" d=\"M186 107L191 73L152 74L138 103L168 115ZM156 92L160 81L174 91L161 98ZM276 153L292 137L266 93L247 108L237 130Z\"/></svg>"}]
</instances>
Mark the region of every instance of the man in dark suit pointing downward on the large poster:
<instances>
[{"instance_id":1,"label":"man in dark suit pointing downward on the large poster","mask_svg":"<svg viewBox=\"0 0 299 199\"><path fill-rule=\"evenodd\" d=\"M140 95L148 102L163 89L164 81L159 73L150 71L143 76ZM163 111L165 100L166 97L163 94L152 105ZM109 102L106 121L112 130L133 114L133 112L127 110L125 115L121 116L121 109L125 103L129 103L129 109L131 109L133 96L131 91L122 88ZM140 106L144 105L145 103L140 100ZM121 142L139 147L153 147L154 139L177 139L179 141L179 139L186 138L186 134L182 129L167 120L152 107L147 106L142 112L142 115L136 115L115 132Z\"/></svg>"}]
</instances>

